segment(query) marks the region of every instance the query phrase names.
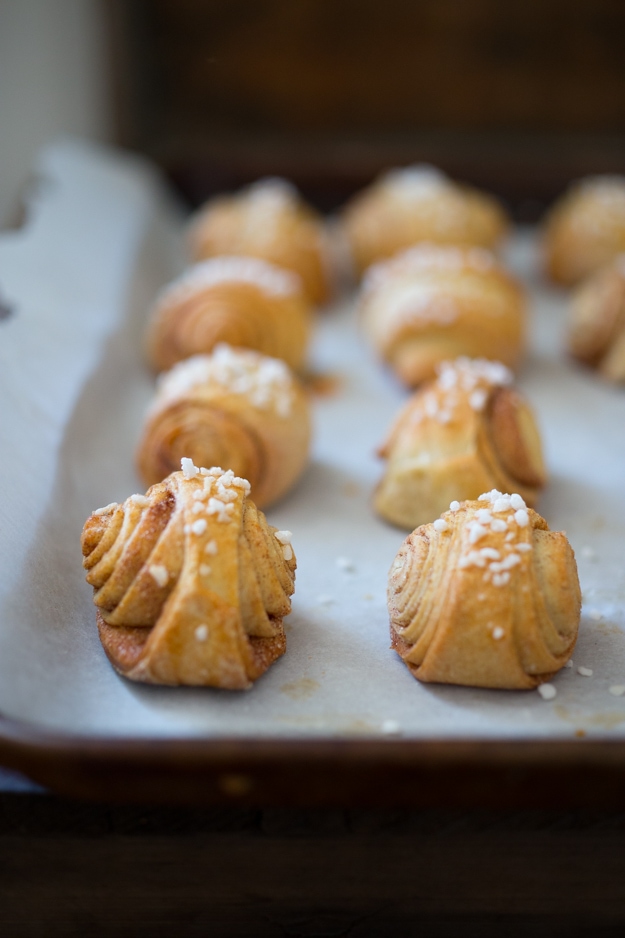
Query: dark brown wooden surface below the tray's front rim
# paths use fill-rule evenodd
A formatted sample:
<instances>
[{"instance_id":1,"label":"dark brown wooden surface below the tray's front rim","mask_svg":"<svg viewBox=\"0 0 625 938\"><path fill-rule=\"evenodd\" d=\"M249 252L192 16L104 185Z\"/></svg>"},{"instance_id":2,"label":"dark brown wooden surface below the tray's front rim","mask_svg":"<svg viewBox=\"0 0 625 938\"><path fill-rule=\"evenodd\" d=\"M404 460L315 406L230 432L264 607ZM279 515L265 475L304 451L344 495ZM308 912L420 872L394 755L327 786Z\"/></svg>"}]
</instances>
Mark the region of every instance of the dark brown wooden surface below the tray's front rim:
<instances>
[{"instance_id":1,"label":"dark brown wooden surface below the tray's front rim","mask_svg":"<svg viewBox=\"0 0 625 938\"><path fill-rule=\"evenodd\" d=\"M0 921L11 938L620 938L625 808L106 804L0 770Z\"/></svg>"}]
</instances>

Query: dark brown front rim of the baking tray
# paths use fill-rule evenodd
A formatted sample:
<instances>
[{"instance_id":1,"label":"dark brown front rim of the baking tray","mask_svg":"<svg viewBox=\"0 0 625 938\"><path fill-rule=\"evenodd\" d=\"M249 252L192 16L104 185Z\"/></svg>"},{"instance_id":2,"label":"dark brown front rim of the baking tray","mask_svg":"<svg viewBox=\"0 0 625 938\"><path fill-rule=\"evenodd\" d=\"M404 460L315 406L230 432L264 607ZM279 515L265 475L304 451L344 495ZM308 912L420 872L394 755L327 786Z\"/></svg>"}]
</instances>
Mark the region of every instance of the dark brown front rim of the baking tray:
<instances>
[{"instance_id":1,"label":"dark brown front rim of the baking tray","mask_svg":"<svg viewBox=\"0 0 625 938\"><path fill-rule=\"evenodd\" d=\"M0 718L0 761L60 794L283 806L617 807L625 742L95 739Z\"/></svg>"}]
</instances>

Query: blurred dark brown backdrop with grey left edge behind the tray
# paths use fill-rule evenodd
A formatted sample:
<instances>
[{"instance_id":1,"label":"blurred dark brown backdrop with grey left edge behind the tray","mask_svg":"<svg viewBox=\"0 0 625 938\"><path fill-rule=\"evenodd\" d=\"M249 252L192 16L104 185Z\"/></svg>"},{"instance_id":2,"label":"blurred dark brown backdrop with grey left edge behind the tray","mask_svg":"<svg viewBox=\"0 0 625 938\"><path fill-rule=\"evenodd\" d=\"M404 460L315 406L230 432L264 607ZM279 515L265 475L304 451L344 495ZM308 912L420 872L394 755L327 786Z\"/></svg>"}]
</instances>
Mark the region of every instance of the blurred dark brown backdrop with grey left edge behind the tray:
<instances>
[{"instance_id":1,"label":"blurred dark brown backdrop with grey left edge behind the tray","mask_svg":"<svg viewBox=\"0 0 625 938\"><path fill-rule=\"evenodd\" d=\"M534 219L625 171L624 37L623 0L2 0L0 215L69 131L192 205L271 173L332 209L427 161Z\"/></svg>"}]
</instances>

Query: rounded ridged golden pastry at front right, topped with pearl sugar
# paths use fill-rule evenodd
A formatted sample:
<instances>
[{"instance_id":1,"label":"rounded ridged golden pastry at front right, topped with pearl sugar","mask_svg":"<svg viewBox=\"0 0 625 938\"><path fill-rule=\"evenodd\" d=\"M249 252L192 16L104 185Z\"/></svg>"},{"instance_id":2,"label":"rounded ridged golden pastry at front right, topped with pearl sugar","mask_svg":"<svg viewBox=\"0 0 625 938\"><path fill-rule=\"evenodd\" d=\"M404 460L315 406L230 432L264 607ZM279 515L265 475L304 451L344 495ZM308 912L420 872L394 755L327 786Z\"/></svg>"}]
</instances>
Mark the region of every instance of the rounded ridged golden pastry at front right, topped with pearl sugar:
<instances>
[{"instance_id":1,"label":"rounded ridged golden pastry at front right, topped with pearl sugar","mask_svg":"<svg viewBox=\"0 0 625 938\"><path fill-rule=\"evenodd\" d=\"M406 538L388 607L392 647L420 681L536 687L575 645L575 555L520 495L488 492Z\"/></svg>"}]
</instances>

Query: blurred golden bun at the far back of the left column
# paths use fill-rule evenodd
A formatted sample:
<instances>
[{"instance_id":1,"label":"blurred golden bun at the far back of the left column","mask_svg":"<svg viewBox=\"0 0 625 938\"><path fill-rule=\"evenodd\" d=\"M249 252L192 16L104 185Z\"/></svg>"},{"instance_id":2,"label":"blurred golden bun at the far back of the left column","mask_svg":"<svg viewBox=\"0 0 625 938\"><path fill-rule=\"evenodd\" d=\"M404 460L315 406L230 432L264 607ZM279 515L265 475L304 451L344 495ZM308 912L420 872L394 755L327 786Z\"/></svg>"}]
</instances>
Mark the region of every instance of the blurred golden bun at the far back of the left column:
<instances>
[{"instance_id":1,"label":"blurred golden bun at the far back of the left column","mask_svg":"<svg viewBox=\"0 0 625 938\"><path fill-rule=\"evenodd\" d=\"M328 299L323 222L284 179L261 179L236 195L211 199L191 225L189 244L195 260L261 257L298 274L311 302Z\"/></svg>"}]
</instances>

